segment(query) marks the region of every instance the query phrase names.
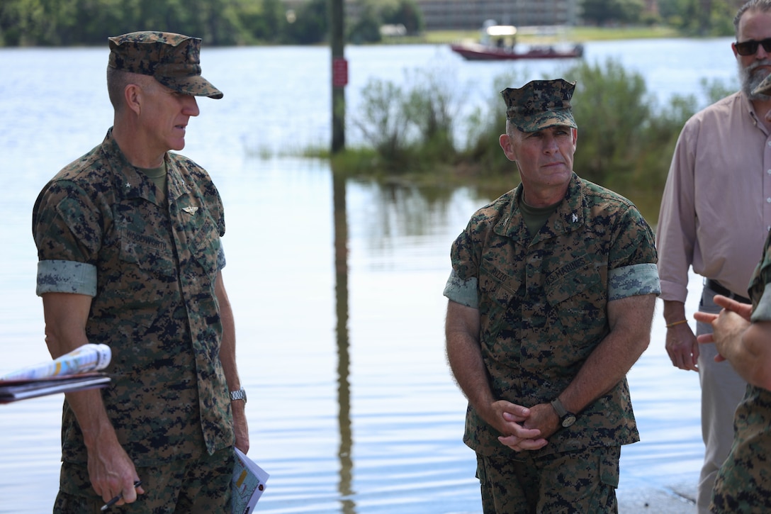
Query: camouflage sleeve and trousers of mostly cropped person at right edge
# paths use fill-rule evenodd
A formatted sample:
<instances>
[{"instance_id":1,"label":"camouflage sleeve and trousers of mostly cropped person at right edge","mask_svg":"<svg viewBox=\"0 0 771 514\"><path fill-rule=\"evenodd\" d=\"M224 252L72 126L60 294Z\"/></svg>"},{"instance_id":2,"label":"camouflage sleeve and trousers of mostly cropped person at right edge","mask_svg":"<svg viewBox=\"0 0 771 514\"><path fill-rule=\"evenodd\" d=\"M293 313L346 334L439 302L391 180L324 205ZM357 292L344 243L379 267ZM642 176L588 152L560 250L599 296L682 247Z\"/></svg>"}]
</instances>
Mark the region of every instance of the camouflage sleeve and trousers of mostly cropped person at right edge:
<instances>
[{"instance_id":1,"label":"camouflage sleeve and trousers of mostly cropped person at right edge","mask_svg":"<svg viewBox=\"0 0 771 514\"><path fill-rule=\"evenodd\" d=\"M771 321L771 236L763 260L749 282L753 322ZM767 514L771 512L771 391L747 384L734 414L731 453L712 489L712 512Z\"/></svg>"}]
</instances>

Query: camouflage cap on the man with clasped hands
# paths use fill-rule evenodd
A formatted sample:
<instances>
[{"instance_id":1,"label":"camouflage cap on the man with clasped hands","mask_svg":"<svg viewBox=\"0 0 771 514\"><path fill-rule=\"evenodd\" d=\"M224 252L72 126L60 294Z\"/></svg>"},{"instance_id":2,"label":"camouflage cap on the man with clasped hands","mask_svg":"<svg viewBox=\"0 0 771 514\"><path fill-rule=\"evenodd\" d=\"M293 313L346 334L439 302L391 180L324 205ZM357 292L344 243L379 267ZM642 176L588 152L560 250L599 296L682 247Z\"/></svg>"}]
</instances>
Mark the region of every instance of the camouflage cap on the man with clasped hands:
<instances>
[{"instance_id":1,"label":"camouflage cap on the man with clasped hands","mask_svg":"<svg viewBox=\"0 0 771 514\"><path fill-rule=\"evenodd\" d=\"M531 80L519 89L500 92L506 102L506 119L523 132L535 132L555 125L577 128L571 110L576 86L563 79Z\"/></svg>"}]
</instances>

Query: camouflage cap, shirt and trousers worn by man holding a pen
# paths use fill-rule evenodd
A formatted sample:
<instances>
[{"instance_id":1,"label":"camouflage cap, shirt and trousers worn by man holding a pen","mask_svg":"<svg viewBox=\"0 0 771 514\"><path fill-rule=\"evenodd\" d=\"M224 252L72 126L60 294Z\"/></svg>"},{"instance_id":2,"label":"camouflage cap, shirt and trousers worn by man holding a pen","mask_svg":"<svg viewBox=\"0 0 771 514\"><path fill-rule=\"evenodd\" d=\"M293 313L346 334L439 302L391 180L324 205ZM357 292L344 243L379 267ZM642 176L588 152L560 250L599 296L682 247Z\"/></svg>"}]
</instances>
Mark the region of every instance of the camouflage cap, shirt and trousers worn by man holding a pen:
<instances>
[{"instance_id":1,"label":"camouflage cap, shirt and trousers worn by man holding a pen","mask_svg":"<svg viewBox=\"0 0 771 514\"><path fill-rule=\"evenodd\" d=\"M109 42L110 68L153 76L186 95L222 97L200 77L200 39L136 32ZM187 489L177 512L217 512L229 505L234 445L217 290L224 208L207 172L187 157L166 152L162 167L164 181L148 177L110 129L45 185L32 218L37 294L44 305L48 293L89 297L86 338L112 349L106 372L113 380L101 397L145 491L123 509L167 512ZM49 316L46 324L48 333ZM89 454L69 401L62 462L66 494L56 511L100 506L104 495L91 487ZM182 463L189 462L197 470L186 471Z\"/></svg>"}]
</instances>

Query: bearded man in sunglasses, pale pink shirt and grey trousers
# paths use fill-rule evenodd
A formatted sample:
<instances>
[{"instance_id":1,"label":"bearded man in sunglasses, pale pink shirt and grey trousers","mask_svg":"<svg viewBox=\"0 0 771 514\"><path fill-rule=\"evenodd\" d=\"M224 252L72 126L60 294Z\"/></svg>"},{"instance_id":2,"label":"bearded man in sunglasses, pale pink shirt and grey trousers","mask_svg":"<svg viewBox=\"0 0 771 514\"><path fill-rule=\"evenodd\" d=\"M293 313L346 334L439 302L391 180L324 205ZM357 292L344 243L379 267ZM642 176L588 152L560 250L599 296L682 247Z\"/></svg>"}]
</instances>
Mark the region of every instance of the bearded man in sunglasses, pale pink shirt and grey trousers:
<instances>
[{"instance_id":1,"label":"bearded man in sunglasses, pale pink shirt and grey trousers","mask_svg":"<svg viewBox=\"0 0 771 514\"><path fill-rule=\"evenodd\" d=\"M717 294L749 304L747 284L771 226L771 122L763 118L771 109L771 96L752 92L771 69L771 1L742 5L734 26L731 49L740 90L695 113L682 128L656 231L665 347L672 366L699 374L702 391L705 448L696 497L699 514L712 512L715 476L731 451L732 414L747 384L728 363L715 361L714 344L697 343L697 336L712 326L695 323L694 332L687 323L691 269L703 282L699 312L719 313L722 306L713 301Z\"/></svg>"}]
</instances>

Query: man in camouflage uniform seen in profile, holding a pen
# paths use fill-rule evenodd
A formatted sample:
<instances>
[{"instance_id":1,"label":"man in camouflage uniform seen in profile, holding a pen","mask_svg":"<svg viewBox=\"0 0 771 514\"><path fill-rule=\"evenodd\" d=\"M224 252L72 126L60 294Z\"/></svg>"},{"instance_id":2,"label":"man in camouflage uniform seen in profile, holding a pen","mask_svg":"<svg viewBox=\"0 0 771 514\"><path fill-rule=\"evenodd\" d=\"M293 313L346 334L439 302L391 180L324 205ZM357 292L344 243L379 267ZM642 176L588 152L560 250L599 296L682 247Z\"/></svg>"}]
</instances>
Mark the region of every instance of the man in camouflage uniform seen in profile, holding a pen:
<instances>
[{"instance_id":1,"label":"man in camouflage uniform seen in profile, holding a pen","mask_svg":"<svg viewBox=\"0 0 771 514\"><path fill-rule=\"evenodd\" d=\"M53 512L230 512L234 445L249 446L221 270L224 208L182 150L200 39L109 38L113 127L35 201L37 294L52 357L106 343L103 390L66 394ZM231 391L231 392L229 392ZM136 487L135 482L141 481Z\"/></svg>"}]
</instances>

